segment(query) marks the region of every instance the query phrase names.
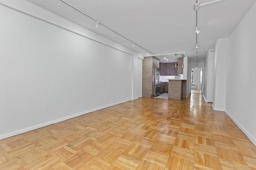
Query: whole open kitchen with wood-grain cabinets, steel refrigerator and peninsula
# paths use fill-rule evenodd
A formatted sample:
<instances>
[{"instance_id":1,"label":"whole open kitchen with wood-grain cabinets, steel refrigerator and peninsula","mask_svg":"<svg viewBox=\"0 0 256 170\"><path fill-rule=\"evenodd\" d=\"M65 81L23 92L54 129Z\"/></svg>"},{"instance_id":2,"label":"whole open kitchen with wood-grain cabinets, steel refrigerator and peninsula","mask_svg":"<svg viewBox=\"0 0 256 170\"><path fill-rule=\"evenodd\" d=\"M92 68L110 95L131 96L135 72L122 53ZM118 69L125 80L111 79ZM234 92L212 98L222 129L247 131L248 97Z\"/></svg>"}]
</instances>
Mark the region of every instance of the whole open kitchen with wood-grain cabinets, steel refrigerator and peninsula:
<instances>
[{"instance_id":1,"label":"whole open kitchen with wood-grain cabinets, steel refrigerator and peninsula","mask_svg":"<svg viewBox=\"0 0 256 170\"><path fill-rule=\"evenodd\" d=\"M144 57L143 96L181 100L186 98L186 53Z\"/></svg>"}]
</instances>

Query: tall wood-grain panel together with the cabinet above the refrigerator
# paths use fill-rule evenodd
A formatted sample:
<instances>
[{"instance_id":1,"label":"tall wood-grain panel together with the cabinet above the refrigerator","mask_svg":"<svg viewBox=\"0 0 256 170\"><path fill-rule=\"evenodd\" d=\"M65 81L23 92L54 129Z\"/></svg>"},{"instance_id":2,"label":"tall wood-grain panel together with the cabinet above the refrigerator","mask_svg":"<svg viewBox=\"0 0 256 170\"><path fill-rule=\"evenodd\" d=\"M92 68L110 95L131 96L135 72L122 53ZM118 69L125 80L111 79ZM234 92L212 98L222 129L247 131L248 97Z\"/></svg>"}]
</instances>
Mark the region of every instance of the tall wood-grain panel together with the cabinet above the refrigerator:
<instances>
[{"instance_id":1,"label":"tall wood-grain panel together with the cabinet above the refrigerator","mask_svg":"<svg viewBox=\"0 0 256 170\"><path fill-rule=\"evenodd\" d=\"M142 96L151 97L154 94L154 72L159 68L159 59L144 57L142 67Z\"/></svg>"}]
</instances>

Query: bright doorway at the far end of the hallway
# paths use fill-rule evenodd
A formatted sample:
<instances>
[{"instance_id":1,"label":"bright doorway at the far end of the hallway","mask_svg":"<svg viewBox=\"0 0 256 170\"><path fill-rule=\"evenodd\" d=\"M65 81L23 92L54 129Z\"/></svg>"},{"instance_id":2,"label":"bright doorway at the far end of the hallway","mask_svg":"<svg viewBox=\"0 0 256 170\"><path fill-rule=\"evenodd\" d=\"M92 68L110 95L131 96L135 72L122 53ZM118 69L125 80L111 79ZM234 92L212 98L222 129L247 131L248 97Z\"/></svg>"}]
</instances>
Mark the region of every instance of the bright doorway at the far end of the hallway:
<instances>
[{"instance_id":1,"label":"bright doorway at the far end of the hallway","mask_svg":"<svg viewBox=\"0 0 256 170\"><path fill-rule=\"evenodd\" d=\"M203 68L192 68L191 93L202 94Z\"/></svg>"}]
</instances>

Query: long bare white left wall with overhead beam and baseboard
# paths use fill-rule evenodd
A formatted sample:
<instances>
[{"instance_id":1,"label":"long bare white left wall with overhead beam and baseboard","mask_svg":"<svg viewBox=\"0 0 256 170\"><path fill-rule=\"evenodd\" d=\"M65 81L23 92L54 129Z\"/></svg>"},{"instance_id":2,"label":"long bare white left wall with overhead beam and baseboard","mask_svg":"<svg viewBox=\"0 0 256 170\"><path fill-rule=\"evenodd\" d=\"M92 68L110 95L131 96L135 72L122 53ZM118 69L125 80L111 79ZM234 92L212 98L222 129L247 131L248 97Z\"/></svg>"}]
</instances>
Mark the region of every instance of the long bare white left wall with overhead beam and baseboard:
<instances>
[{"instance_id":1,"label":"long bare white left wall with overhead beam and baseboard","mask_svg":"<svg viewBox=\"0 0 256 170\"><path fill-rule=\"evenodd\" d=\"M0 139L140 95L136 52L23 0L0 20Z\"/></svg>"}]
</instances>

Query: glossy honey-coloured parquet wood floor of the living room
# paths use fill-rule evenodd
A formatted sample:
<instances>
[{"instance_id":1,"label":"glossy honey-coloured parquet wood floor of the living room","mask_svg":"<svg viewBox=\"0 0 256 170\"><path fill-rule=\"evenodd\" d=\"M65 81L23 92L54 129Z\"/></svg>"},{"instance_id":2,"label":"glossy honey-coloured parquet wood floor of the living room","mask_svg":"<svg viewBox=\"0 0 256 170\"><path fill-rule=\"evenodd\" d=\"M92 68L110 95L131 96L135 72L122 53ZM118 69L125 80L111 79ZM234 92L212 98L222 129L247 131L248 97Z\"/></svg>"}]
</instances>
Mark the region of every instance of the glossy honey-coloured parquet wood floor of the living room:
<instances>
[{"instance_id":1,"label":"glossy honey-coloured parquet wood floor of the living room","mask_svg":"<svg viewBox=\"0 0 256 170\"><path fill-rule=\"evenodd\" d=\"M201 94L140 98L0 140L0 170L256 170L256 147Z\"/></svg>"}]
</instances>

